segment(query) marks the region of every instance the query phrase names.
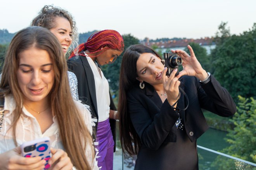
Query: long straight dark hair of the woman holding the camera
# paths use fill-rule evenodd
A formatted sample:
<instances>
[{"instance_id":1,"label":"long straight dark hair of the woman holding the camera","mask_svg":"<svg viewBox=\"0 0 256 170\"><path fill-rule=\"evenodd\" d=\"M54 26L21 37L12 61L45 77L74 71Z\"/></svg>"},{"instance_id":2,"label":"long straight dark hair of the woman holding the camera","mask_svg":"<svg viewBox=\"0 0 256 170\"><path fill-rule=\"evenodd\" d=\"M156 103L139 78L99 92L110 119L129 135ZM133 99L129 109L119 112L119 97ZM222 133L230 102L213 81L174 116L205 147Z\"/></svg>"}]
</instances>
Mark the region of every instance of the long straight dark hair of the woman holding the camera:
<instances>
[{"instance_id":1,"label":"long straight dark hair of the woman holding the camera","mask_svg":"<svg viewBox=\"0 0 256 170\"><path fill-rule=\"evenodd\" d=\"M119 77L119 133L123 151L137 155L140 149L140 137L135 131L129 113L127 112L126 93L134 86L139 86L137 75L137 60L143 53L152 53L161 58L154 50L144 45L131 45L125 50L121 63Z\"/></svg>"}]
</instances>

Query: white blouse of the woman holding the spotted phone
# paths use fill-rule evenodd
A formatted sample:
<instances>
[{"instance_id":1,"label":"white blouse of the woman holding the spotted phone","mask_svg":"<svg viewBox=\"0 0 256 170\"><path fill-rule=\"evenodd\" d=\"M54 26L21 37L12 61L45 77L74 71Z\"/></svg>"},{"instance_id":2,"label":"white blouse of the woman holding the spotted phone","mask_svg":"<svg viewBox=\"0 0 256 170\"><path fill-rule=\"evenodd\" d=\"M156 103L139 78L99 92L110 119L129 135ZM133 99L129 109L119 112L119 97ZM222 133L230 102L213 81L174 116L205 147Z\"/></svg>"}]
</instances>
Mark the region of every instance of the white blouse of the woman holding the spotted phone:
<instances>
[{"instance_id":1,"label":"white blouse of the woman holding the spotted phone","mask_svg":"<svg viewBox=\"0 0 256 170\"><path fill-rule=\"evenodd\" d=\"M74 102L78 107L78 110L81 111L86 127L90 131L90 134L92 134L91 113L83 104L75 100ZM10 129L8 131L8 129L12 125L12 112L15 107L16 103L13 96L5 96L5 115L3 118L2 129L0 131L0 154L9 151L10 149L16 148L13 141L12 130ZM8 113L6 112L7 110L9 111ZM31 113L29 113L25 107L22 107L22 111L23 113L21 114L16 127L16 140L18 146L24 142L48 136L50 137L52 148L64 150L61 142L61 137L59 136L58 122L55 116L53 117L54 123L42 134L40 125L37 122L36 118ZM96 159L92 160L92 150L90 147L86 147L85 154L88 162L92 162L92 169L98 170L99 168L97 167Z\"/></svg>"}]
</instances>

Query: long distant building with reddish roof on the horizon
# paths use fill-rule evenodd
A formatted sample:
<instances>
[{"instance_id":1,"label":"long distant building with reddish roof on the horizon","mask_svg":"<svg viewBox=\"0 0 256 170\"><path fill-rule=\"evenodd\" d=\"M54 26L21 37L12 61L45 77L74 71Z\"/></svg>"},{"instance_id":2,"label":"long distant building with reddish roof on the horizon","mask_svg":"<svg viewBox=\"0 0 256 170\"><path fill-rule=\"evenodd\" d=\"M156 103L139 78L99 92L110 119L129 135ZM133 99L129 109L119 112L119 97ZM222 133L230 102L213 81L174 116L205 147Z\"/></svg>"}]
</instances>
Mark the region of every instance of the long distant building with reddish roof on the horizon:
<instances>
[{"instance_id":1,"label":"long distant building with reddish roof on the horizon","mask_svg":"<svg viewBox=\"0 0 256 170\"><path fill-rule=\"evenodd\" d=\"M145 38L144 41L140 42L145 46L151 47L151 46L157 46L161 50L167 50L167 49L184 49L187 48L187 45L189 43L194 42L202 47L206 48L207 53L209 54L211 52L211 49L215 48L215 43L213 41L213 38L205 37L201 39L178 39L178 40L168 40L168 41L149 41L149 38Z\"/></svg>"}]
</instances>

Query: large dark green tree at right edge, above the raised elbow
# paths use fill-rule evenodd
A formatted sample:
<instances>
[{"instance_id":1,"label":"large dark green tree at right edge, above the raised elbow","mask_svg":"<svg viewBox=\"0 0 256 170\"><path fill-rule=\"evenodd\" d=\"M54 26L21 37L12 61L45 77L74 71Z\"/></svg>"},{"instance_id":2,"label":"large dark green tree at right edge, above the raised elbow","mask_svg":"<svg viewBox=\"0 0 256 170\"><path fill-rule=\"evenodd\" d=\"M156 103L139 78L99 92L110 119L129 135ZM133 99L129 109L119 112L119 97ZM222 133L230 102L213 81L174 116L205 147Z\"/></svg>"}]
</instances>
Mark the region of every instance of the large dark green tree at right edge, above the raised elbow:
<instances>
[{"instance_id":1,"label":"large dark green tree at right edge, above the raised elbow","mask_svg":"<svg viewBox=\"0 0 256 170\"><path fill-rule=\"evenodd\" d=\"M244 33L230 35L225 24L216 35L216 48L211 53L211 72L227 88L237 102L237 96L256 96L256 23Z\"/></svg>"}]
</instances>

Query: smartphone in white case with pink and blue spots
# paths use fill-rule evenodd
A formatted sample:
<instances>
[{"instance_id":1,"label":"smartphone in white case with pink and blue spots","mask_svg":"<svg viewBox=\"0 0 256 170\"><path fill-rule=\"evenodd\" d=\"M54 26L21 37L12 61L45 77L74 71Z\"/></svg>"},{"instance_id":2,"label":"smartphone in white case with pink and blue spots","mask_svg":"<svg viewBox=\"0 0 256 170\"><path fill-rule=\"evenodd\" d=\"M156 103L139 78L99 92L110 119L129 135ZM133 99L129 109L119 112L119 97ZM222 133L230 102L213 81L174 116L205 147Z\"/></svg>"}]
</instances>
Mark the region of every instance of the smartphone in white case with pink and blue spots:
<instances>
[{"instance_id":1,"label":"smartphone in white case with pink and blue spots","mask_svg":"<svg viewBox=\"0 0 256 170\"><path fill-rule=\"evenodd\" d=\"M26 158L41 156L46 161L45 168L50 168L48 160L51 158L50 138L43 137L34 141L25 142L21 145L22 156Z\"/></svg>"}]
</instances>

